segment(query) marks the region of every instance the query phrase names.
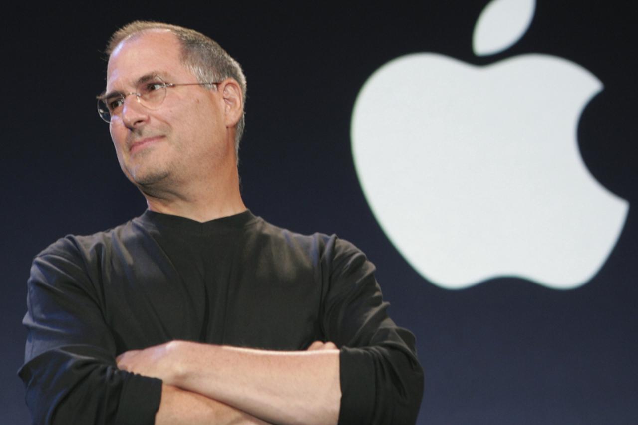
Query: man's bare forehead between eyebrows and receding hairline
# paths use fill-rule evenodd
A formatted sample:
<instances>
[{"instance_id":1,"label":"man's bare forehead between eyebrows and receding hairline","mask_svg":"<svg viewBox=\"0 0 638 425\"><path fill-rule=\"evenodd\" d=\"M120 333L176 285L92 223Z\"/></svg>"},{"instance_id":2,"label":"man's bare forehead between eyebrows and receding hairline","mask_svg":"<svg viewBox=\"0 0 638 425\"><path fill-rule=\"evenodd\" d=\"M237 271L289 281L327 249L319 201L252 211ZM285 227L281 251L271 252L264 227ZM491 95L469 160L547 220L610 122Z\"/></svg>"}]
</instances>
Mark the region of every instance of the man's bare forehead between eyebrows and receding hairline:
<instances>
[{"instance_id":1,"label":"man's bare forehead between eyebrows and receding hairline","mask_svg":"<svg viewBox=\"0 0 638 425\"><path fill-rule=\"evenodd\" d=\"M192 75L182 64L179 40L168 30L149 30L121 41L108 58L107 91L154 72L167 78Z\"/></svg>"}]
</instances>

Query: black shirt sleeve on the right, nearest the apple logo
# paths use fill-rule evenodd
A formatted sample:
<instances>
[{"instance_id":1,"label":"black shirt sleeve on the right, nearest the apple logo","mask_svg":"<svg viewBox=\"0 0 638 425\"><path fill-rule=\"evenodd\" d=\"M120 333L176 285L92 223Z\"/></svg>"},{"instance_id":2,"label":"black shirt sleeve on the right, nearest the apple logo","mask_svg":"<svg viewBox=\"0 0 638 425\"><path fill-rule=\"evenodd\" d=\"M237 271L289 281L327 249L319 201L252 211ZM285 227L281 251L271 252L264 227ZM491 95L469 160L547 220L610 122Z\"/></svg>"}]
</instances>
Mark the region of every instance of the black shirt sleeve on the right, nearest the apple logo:
<instances>
[{"instance_id":1,"label":"black shirt sleeve on the right, nearest the apple logo","mask_svg":"<svg viewBox=\"0 0 638 425\"><path fill-rule=\"evenodd\" d=\"M327 339L341 347L341 424L413 424L423 395L423 371L413 334L387 315L375 266L349 242L332 239L324 259L329 295Z\"/></svg>"}]
</instances>

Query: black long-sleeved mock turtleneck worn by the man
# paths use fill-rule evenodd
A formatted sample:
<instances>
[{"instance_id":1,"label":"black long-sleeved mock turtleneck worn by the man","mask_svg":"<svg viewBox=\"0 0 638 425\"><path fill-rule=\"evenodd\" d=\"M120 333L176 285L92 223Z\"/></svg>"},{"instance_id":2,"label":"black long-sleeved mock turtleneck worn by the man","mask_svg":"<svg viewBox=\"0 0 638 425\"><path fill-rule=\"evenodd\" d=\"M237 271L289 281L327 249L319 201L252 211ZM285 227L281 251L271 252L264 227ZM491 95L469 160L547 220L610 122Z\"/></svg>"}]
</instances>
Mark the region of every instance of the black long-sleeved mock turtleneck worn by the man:
<instances>
[{"instance_id":1,"label":"black long-sleeved mock turtleneck worn by the man","mask_svg":"<svg viewBox=\"0 0 638 425\"><path fill-rule=\"evenodd\" d=\"M184 339L269 350L341 348L345 424L415 422L414 337L387 316L374 266L349 242L250 211L200 223L146 211L38 255L20 377L36 423L152 424L161 381L115 356Z\"/></svg>"}]
</instances>

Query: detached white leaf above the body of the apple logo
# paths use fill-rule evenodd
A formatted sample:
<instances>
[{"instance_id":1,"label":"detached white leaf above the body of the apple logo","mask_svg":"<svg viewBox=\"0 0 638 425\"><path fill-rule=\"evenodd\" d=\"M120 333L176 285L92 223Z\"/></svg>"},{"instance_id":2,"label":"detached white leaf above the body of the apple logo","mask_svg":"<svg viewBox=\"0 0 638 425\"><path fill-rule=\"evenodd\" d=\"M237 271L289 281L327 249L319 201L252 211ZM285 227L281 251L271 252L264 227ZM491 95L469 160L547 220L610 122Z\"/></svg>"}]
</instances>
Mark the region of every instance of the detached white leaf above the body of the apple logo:
<instances>
[{"instance_id":1,"label":"detached white leaf above the body of the apple logo","mask_svg":"<svg viewBox=\"0 0 638 425\"><path fill-rule=\"evenodd\" d=\"M514 45L530 27L535 7L535 0L492 0L488 3L474 26L474 54L493 55Z\"/></svg>"}]
</instances>

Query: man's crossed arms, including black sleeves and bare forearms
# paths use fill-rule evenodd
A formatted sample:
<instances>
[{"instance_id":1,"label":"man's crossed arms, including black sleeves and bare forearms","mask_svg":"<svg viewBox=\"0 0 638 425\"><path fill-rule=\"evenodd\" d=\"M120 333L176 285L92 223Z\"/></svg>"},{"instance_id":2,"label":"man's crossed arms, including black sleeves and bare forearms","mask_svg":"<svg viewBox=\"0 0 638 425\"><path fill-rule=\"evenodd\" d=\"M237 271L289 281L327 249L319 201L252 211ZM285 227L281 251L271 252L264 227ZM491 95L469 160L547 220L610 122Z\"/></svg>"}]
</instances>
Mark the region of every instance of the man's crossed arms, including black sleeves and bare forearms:
<instances>
[{"instance_id":1,"label":"man's crossed arms, including black sleeves and bare forearms","mask_svg":"<svg viewBox=\"0 0 638 425\"><path fill-rule=\"evenodd\" d=\"M360 254L329 267L340 272L330 274L332 289L317 322L326 330L317 334L340 350L316 343L307 352L272 352L185 341L153 345L162 339L121 320L128 338L140 341L126 344L105 321L105 301L94 287L99 276L85 271L73 250L53 248L34 260L24 318L29 338L19 375L34 422L416 420L423 375L414 337L387 317L373 266ZM343 274L354 283L341 283ZM151 345L114 359L118 347Z\"/></svg>"}]
</instances>

